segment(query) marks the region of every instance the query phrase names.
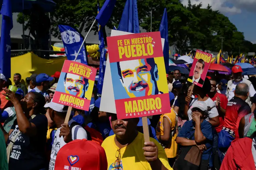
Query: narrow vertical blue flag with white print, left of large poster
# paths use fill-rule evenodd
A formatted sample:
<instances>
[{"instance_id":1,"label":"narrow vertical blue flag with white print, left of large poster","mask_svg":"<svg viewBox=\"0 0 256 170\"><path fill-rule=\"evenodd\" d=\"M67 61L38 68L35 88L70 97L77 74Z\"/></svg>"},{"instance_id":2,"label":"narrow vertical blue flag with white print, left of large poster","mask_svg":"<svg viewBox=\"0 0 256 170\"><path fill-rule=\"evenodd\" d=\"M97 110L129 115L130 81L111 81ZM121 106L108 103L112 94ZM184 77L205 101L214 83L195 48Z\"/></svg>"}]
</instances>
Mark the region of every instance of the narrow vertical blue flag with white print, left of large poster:
<instances>
[{"instance_id":1,"label":"narrow vertical blue flag with white print, left of large poster","mask_svg":"<svg viewBox=\"0 0 256 170\"><path fill-rule=\"evenodd\" d=\"M98 4L98 12L99 12L99 4ZM98 34L99 34L99 53L100 53L100 60L99 60L99 79L97 84L98 94L102 94L102 87L103 87L103 80L105 75L106 69L106 50L104 45L104 37L102 29L100 29L101 25L98 24Z\"/></svg>"}]
</instances>

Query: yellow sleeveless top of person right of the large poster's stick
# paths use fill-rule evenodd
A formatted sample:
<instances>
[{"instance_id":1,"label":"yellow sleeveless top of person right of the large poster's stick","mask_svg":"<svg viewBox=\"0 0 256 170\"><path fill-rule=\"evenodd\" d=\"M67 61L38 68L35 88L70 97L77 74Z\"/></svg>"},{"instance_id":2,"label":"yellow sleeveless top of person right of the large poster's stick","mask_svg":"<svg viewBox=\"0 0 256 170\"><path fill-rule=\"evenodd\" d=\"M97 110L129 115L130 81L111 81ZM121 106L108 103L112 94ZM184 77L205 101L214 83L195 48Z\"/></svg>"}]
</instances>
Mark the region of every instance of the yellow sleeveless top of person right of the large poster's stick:
<instances>
[{"instance_id":1,"label":"yellow sleeveless top of person right of the large poster's stick","mask_svg":"<svg viewBox=\"0 0 256 170\"><path fill-rule=\"evenodd\" d=\"M177 143L176 143L176 137L177 137L177 132L176 132L176 128L177 128L177 116L175 111L173 110L173 108L171 108L171 112L170 113L165 113L162 114L160 116L158 125L157 125L157 129L156 129L156 133L157 135L164 135L164 126L163 126L163 120L164 117L168 119L168 121L171 124L171 131L174 131L174 135L171 138L171 143L170 145L168 145L167 147L165 147L165 153L167 155L168 158L173 158L177 156Z\"/></svg>"}]
</instances>

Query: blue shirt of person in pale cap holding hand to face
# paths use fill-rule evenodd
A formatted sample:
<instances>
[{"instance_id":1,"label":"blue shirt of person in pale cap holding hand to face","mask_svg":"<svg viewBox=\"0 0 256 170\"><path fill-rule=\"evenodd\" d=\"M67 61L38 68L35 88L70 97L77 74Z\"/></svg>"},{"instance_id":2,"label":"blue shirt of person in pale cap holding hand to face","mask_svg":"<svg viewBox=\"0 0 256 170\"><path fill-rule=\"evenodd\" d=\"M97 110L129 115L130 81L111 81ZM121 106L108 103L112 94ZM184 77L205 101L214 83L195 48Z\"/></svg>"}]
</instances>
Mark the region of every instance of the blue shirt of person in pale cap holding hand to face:
<instances>
[{"instance_id":1,"label":"blue shirt of person in pale cap holding hand to face","mask_svg":"<svg viewBox=\"0 0 256 170\"><path fill-rule=\"evenodd\" d=\"M193 122L192 120L186 121L182 126L180 132L178 133L177 137L184 137L189 139L193 135L191 140L195 140L195 135L194 135L195 128L192 122ZM209 123L206 120L203 120L203 122L201 123L201 131L204 137L206 137L206 142L205 142L206 150L203 152L202 159L208 160L209 157L211 156L212 145L213 145L213 128L211 123Z\"/></svg>"}]
</instances>

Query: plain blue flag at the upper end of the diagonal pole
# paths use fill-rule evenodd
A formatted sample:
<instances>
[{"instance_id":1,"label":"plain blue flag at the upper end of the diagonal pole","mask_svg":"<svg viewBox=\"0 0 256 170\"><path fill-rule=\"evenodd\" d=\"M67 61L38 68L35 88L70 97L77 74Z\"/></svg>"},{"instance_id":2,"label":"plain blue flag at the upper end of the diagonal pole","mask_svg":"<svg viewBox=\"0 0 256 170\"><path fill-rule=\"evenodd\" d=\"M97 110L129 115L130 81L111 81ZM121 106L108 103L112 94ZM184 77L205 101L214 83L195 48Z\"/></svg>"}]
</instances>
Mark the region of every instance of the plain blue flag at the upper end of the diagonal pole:
<instances>
[{"instance_id":1,"label":"plain blue flag at the upper end of the diagonal pole","mask_svg":"<svg viewBox=\"0 0 256 170\"><path fill-rule=\"evenodd\" d=\"M111 17L111 14L115 7L115 2L116 0L106 0L102 8L98 12L96 20L101 26L105 26L108 23L108 20Z\"/></svg>"}]
</instances>

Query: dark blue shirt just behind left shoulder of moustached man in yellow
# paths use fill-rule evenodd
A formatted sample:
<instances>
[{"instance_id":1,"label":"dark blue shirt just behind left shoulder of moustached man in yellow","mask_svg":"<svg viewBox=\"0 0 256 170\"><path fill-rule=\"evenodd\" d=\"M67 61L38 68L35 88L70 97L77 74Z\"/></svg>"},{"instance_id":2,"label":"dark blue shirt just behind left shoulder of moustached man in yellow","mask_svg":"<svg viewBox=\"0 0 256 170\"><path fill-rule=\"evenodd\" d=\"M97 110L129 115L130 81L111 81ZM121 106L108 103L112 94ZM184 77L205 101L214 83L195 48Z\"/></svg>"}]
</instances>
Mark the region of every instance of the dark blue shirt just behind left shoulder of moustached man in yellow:
<instances>
[{"instance_id":1,"label":"dark blue shirt just behind left shoulder of moustached man in yellow","mask_svg":"<svg viewBox=\"0 0 256 170\"><path fill-rule=\"evenodd\" d=\"M110 130L112 130L110 122L96 122L95 124L90 122L87 126L99 131L102 134L103 139L106 139L109 136Z\"/></svg>"}]
</instances>

